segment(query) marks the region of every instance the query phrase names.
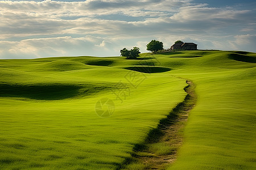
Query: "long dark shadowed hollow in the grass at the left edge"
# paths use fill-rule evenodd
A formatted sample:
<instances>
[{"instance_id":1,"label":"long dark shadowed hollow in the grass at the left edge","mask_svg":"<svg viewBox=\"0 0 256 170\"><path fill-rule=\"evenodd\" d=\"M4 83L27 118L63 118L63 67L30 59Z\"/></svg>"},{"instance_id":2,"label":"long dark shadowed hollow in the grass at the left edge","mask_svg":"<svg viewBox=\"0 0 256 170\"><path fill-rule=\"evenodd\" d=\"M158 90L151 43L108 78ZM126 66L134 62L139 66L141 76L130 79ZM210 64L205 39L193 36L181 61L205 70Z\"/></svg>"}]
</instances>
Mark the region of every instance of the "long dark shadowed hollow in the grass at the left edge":
<instances>
[{"instance_id":1,"label":"long dark shadowed hollow in the grass at the left edge","mask_svg":"<svg viewBox=\"0 0 256 170\"><path fill-rule=\"evenodd\" d=\"M112 85L113 86L113 85ZM108 90L112 86L82 84L0 84L0 97L22 97L33 100L63 100Z\"/></svg>"}]
</instances>

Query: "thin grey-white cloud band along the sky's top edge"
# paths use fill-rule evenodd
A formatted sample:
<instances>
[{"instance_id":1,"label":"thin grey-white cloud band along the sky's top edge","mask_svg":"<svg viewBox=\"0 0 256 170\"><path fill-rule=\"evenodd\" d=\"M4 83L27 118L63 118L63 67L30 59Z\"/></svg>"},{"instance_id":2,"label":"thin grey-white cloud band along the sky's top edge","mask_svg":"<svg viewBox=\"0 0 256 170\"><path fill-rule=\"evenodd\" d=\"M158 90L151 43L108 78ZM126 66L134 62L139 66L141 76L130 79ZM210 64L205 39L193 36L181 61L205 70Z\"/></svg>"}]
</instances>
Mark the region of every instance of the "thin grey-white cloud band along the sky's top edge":
<instances>
[{"instance_id":1,"label":"thin grey-white cloud band along the sky's top edge","mask_svg":"<svg viewBox=\"0 0 256 170\"><path fill-rule=\"evenodd\" d=\"M177 0L143 0L143 1L112 1L112 0L87 0L82 2L60 2L60 1L0 1L2 10L15 10L15 11L38 11L38 12L52 12L56 10L78 10L84 12L101 12L114 10L152 10L155 11L166 10L167 7L179 7L185 6L189 1L177 1ZM152 8L154 7L154 8ZM162 11L160 10L160 11ZM170 9L169 9L170 10Z\"/></svg>"}]
</instances>

